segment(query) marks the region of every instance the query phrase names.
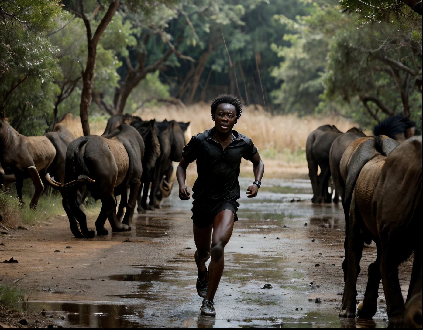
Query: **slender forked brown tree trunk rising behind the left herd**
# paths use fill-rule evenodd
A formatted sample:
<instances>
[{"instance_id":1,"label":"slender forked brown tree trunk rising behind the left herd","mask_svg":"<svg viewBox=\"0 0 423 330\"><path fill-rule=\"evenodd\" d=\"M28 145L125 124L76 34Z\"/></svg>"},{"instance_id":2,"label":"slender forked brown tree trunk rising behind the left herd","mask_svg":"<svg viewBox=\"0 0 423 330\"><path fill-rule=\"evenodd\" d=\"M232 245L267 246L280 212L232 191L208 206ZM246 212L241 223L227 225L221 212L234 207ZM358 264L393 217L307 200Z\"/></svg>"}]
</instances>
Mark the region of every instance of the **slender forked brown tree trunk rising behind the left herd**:
<instances>
[{"instance_id":1,"label":"slender forked brown tree trunk rising behind the left herd","mask_svg":"<svg viewBox=\"0 0 423 330\"><path fill-rule=\"evenodd\" d=\"M99 42L101 36L103 35L103 32L106 29L107 25L112 20L112 17L115 15L115 12L118 9L118 6L119 6L119 0L115 0L113 1L113 3L110 4L109 9L107 9L106 14L104 15L102 21L100 22L93 36L91 36L90 21L87 19L87 17L83 13L83 9L82 9L82 12L79 13L79 16L84 21L85 28L87 29L87 39L88 39L87 66L82 75L82 95L81 95L81 103L80 103L80 118L81 118L82 131L84 133L84 136L90 135L90 125L88 123L88 111L90 109L90 104L91 104L91 94L93 92L93 77L94 77L94 67L96 64L97 43Z\"/></svg>"}]
</instances>

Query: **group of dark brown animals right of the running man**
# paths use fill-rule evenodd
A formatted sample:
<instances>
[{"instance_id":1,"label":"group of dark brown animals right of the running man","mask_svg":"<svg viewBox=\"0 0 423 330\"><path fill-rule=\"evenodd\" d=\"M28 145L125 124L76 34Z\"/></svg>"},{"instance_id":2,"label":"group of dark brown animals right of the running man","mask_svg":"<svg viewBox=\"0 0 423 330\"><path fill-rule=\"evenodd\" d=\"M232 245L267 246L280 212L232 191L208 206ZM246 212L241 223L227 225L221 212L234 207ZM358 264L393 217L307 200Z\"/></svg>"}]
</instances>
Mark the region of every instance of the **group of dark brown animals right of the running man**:
<instances>
[{"instance_id":1,"label":"group of dark brown animals right of the running man","mask_svg":"<svg viewBox=\"0 0 423 330\"><path fill-rule=\"evenodd\" d=\"M421 327L422 138L415 123L398 115L366 136L353 127L346 133L324 125L307 139L306 155L313 203L339 197L345 215L344 292L341 317L371 319L376 314L382 279L390 327ZM317 175L317 166L320 174ZM357 306L357 277L364 243L376 243L376 261L368 268L364 299ZM420 246L420 248L419 248ZM414 252L406 304L398 266Z\"/></svg>"}]
</instances>

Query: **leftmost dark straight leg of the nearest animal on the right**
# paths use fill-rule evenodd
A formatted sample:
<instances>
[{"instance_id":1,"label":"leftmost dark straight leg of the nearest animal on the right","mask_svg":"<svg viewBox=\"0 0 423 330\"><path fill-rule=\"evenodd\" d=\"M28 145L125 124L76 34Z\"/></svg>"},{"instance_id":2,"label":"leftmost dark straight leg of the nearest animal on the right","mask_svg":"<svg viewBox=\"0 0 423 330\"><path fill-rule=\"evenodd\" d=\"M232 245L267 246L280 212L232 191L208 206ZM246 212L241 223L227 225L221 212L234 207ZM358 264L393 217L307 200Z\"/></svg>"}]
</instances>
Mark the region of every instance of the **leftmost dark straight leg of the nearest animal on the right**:
<instances>
[{"instance_id":1,"label":"leftmost dark straight leg of the nearest animal on the right","mask_svg":"<svg viewBox=\"0 0 423 330\"><path fill-rule=\"evenodd\" d=\"M350 207L349 230L346 254L348 254L347 275L344 286L342 307L339 317L355 317L357 298L357 277L360 274L360 259L363 253L363 236L360 233L360 213L353 198Z\"/></svg>"}]
</instances>

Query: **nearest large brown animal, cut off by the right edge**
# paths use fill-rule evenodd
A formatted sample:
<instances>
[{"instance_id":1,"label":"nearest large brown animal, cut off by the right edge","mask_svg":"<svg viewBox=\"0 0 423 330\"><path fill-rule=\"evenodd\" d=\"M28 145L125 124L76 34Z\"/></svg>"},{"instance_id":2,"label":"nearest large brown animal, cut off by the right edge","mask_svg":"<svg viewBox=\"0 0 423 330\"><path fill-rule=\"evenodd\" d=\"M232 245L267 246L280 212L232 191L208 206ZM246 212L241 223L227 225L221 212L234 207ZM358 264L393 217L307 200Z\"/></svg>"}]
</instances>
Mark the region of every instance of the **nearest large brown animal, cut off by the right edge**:
<instances>
[{"instance_id":1,"label":"nearest large brown animal, cut off by the right edge","mask_svg":"<svg viewBox=\"0 0 423 330\"><path fill-rule=\"evenodd\" d=\"M343 303L339 316L354 317L356 281L360 273L363 243L373 240L376 261L368 268L364 300L357 308L361 318L376 313L379 283L382 278L389 326L402 326L404 300L398 280L398 265L414 251L412 277L407 301L421 294L421 136L398 142L380 135L360 138L346 149L341 160L346 182L346 271ZM347 215L347 208L349 213ZM416 306L410 303L412 307ZM409 313L418 308L409 307ZM408 315L408 314L406 314ZM420 315L421 326L421 300Z\"/></svg>"}]
</instances>

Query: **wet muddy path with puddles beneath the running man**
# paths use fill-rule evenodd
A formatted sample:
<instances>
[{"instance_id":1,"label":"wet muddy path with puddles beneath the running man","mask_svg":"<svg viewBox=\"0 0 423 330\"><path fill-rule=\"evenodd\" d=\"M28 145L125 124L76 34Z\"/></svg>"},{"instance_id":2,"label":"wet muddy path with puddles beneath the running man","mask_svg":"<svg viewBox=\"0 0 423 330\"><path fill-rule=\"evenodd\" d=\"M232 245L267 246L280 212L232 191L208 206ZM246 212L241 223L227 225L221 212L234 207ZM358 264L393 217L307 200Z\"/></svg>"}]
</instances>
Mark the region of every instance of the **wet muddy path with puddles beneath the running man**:
<instances>
[{"instance_id":1,"label":"wet muddy path with puddles beneath the running man","mask_svg":"<svg viewBox=\"0 0 423 330\"><path fill-rule=\"evenodd\" d=\"M2 234L0 257L19 262L0 263L0 283L15 283L25 298L33 290L23 308L35 327L386 327L382 285L373 321L338 318L341 203L312 205L304 179L264 179L247 199L251 179L239 181L239 221L225 248L216 318L200 316L191 201L179 200L176 186L160 210L135 215L131 232L76 239L63 212L41 227ZM93 228L95 217L88 220ZM359 301L375 258L374 244L366 246ZM399 270L404 295L411 266ZM262 289L266 283L272 289ZM43 309L46 316L38 315Z\"/></svg>"}]
</instances>

